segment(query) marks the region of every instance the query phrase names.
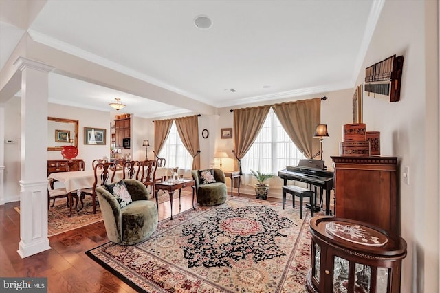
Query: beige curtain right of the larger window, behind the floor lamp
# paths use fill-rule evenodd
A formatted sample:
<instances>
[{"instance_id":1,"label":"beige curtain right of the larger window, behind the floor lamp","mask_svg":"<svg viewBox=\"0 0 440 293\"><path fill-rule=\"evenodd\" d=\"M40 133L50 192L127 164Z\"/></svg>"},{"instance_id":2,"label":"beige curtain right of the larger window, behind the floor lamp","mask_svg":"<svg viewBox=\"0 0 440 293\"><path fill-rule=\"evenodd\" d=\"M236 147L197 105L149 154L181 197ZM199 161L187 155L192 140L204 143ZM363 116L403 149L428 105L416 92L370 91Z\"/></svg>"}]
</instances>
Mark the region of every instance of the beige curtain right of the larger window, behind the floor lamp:
<instances>
[{"instance_id":1,"label":"beige curtain right of the larger window, behind the floor lamp","mask_svg":"<svg viewBox=\"0 0 440 293\"><path fill-rule=\"evenodd\" d=\"M320 150L319 140L313 138L316 125L320 124L321 98L283 102L272 106L278 120L307 158Z\"/></svg>"}]
</instances>

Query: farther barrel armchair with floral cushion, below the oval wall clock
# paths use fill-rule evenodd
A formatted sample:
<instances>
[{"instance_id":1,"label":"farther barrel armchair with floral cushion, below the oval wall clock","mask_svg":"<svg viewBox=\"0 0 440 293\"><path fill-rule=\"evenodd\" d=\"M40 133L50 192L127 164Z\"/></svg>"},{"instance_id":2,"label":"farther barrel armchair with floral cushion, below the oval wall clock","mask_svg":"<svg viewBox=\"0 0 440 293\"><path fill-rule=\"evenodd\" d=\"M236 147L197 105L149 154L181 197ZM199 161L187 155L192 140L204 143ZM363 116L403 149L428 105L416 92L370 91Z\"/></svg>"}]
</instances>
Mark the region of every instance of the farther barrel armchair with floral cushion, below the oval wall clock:
<instances>
[{"instance_id":1,"label":"farther barrel armchair with floral cushion, below the oval wall clock","mask_svg":"<svg viewBox=\"0 0 440 293\"><path fill-rule=\"evenodd\" d=\"M195 179L195 194L199 204L215 206L226 201L228 191L225 184L225 173L221 169L214 168L215 183L200 184L199 170L192 170L192 178Z\"/></svg>"}]
</instances>

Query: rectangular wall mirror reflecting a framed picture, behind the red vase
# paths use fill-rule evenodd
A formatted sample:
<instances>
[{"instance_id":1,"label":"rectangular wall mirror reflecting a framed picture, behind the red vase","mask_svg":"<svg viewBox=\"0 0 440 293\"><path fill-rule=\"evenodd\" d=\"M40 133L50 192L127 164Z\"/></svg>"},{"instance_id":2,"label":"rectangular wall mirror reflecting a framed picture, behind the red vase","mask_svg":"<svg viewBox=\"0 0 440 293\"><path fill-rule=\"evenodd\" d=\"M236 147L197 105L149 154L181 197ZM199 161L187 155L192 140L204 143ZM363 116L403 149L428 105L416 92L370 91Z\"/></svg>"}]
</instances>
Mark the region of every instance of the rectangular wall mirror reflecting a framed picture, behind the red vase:
<instances>
[{"instance_id":1,"label":"rectangular wall mirror reflecting a framed picture, behind the red vase","mask_svg":"<svg viewBox=\"0 0 440 293\"><path fill-rule=\"evenodd\" d=\"M47 117L47 151L78 147L78 120Z\"/></svg>"}]
</instances>

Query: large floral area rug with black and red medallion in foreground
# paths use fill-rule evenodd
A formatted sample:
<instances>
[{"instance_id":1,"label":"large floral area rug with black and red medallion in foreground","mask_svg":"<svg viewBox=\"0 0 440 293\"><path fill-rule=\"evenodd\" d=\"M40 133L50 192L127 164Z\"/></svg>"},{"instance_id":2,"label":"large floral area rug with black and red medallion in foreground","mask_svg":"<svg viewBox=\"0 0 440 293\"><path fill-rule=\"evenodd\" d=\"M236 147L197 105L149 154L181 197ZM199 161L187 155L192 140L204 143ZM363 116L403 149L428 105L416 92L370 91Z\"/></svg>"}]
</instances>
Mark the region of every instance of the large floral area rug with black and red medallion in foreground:
<instances>
[{"instance_id":1,"label":"large floral area rug with black and red medallion in foreground","mask_svg":"<svg viewBox=\"0 0 440 293\"><path fill-rule=\"evenodd\" d=\"M135 246L105 243L89 257L140 292L307 292L309 212L228 197L159 222Z\"/></svg>"}]
</instances>

